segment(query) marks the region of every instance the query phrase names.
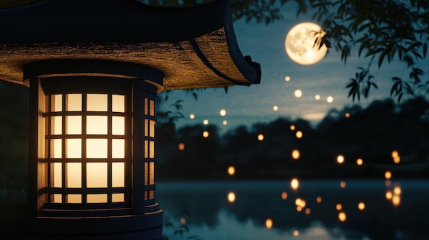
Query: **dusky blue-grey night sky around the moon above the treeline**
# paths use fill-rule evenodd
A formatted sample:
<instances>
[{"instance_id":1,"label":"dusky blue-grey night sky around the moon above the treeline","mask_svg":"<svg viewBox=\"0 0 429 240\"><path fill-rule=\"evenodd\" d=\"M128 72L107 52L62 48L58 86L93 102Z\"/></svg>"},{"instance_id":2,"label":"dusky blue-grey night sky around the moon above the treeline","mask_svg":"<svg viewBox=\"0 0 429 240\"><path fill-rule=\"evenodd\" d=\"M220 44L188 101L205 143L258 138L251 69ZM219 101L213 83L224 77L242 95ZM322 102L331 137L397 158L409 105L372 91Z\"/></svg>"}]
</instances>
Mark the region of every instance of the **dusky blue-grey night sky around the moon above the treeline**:
<instances>
[{"instance_id":1,"label":"dusky blue-grey night sky around the moon above the treeline","mask_svg":"<svg viewBox=\"0 0 429 240\"><path fill-rule=\"evenodd\" d=\"M289 29L306 21L317 23L311 19L311 13L297 17L296 10L295 3L286 3L282 7L284 19L269 25L256 21L245 23L244 19L234 22L241 52L260 63L260 84L249 87L235 85L228 88L227 94L223 88L206 89L198 92L197 101L192 94L183 91L169 92L168 103L184 101L182 114L185 118L180 119L177 126L202 124L203 120L208 120L208 124L217 124L220 131L225 132L240 124L252 126L257 122L270 122L280 116L291 120L303 118L316 125L332 108L343 109L353 104L366 107L374 99L388 98L391 77L408 75L402 63L386 62L380 69L373 64L371 74L375 77L378 90L371 89L369 98L361 97L360 102L353 103L352 98L347 98L348 90L345 85L354 77L359 66L367 66L369 58L359 58L357 50L352 49L352 55L344 64L341 62L341 53L330 49L326 57L317 64L304 66L293 62L284 49ZM286 76L290 77L290 81L285 81ZM303 92L300 98L294 96L297 89ZM319 101L315 99L317 94L320 95ZM328 96L334 99L332 103L327 103ZM274 106L278 106L278 111L273 110ZM162 105L163 109L165 107L168 105ZM220 116L221 109L225 109L225 116ZM190 114L194 114L195 118L190 119ZM223 125L224 120L228 124Z\"/></svg>"}]
</instances>

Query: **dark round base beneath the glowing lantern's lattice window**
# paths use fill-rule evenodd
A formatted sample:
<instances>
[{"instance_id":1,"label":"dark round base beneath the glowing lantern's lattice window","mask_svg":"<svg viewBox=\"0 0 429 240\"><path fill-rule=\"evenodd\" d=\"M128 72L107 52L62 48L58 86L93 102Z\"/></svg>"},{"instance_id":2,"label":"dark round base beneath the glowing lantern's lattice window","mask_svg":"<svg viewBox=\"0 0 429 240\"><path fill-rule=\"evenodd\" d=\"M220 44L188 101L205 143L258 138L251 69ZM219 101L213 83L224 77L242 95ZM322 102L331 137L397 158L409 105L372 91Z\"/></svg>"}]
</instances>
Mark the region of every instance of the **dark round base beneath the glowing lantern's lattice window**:
<instances>
[{"instance_id":1,"label":"dark round base beneath the glowing lantern's lattice window","mask_svg":"<svg viewBox=\"0 0 429 240\"><path fill-rule=\"evenodd\" d=\"M112 217L23 217L20 239L165 240L162 210L147 215Z\"/></svg>"}]
</instances>

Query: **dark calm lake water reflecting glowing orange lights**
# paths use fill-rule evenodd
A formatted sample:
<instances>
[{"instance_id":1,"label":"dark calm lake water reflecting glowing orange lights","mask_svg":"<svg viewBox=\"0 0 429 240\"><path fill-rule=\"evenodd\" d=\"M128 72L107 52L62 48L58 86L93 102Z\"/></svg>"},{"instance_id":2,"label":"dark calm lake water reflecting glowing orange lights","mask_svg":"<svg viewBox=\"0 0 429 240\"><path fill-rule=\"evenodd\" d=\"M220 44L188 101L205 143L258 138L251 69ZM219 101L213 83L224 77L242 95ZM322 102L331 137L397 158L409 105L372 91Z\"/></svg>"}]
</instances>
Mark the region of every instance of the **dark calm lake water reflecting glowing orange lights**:
<instances>
[{"instance_id":1,"label":"dark calm lake water reflecting glowing orange lights","mask_svg":"<svg viewBox=\"0 0 429 240\"><path fill-rule=\"evenodd\" d=\"M158 183L156 198L171 240L429 239L429 181Z\"/></svg>"}]
</instances>

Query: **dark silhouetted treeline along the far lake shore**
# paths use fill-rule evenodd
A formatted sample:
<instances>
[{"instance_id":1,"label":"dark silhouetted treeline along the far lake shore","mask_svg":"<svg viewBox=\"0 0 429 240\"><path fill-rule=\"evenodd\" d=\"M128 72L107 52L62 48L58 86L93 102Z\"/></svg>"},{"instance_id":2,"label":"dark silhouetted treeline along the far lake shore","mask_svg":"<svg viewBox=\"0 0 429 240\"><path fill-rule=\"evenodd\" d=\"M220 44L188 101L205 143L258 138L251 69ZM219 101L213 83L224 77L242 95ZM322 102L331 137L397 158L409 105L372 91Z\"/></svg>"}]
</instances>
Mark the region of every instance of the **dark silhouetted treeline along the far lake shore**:
<instances>
[{"instance_id":1,"label":"dark silhouetted treeline along the far lake shore","mask_svg":"<svg viewBox=\"0 0 429 240\"><path fill-rule=\"evenodd\" d=\"M393 178L428 178L428 109L424 98L400 105L387 99L365 109L331 109L316 127L302 119L278 118L238 126L225 135L219 135L215 125L176 130L171 122L158 123L157 179L383 178L387 170ZM301 138L297 131L302 131ZM297 160L292 157L295 149L300 153ZM398 164L393 150L399 152ZM339 155L345 159L342 164L336 161ZM363 165L357 165L357 159L363 159ZM230 165L236 169L234 176L228 175Z\"/></svg>"}]
</instances>

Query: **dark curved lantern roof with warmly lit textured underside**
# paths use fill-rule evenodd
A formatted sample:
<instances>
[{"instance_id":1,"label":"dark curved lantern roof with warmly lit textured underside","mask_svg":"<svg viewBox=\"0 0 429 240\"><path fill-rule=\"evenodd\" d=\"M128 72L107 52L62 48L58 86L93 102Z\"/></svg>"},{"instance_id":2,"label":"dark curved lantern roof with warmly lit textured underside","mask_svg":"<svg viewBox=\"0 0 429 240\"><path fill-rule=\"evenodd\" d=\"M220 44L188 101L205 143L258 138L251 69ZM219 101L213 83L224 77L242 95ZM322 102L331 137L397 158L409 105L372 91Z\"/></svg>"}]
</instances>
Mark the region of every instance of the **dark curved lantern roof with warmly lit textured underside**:
<instances>
[{"instance_id":1,"label":"dark curved lantern roof with warmly lit textured underside","mask_svg":"<svg viewBox=\"0 0 429 240\"><path fill-rule=\"evenodd\" d=\"M243 56L229 0L159 8L132 0L42 0L0 9L0 79L29 85L23 66L55 59L139 64L162 90L251 85L260 65Z\"/></svg>"}]
</instances>

